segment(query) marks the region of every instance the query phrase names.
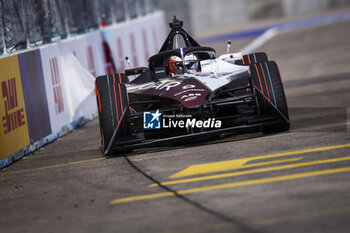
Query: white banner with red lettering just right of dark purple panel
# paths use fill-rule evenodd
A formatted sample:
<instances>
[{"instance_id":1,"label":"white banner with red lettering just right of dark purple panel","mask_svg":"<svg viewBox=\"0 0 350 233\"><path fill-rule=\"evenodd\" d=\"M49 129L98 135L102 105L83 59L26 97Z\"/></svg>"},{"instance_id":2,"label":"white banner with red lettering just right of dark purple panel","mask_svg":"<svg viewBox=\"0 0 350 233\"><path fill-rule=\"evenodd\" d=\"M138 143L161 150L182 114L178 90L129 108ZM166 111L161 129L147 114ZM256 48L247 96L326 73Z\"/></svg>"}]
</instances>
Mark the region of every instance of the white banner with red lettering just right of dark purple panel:
<instances>
[{"instance_id":1,"label":"white banner with red lettering just right of dark purple panel","mask_svg":"<svg viewBox=\"0 0 350 233\"><path fill-rule=\"evenodd\" d=\"M45 79L51 131L54 132L70 123L71 120L58 45L52 44L41 47L40 56Z\"/></svg>"}]
</instances>

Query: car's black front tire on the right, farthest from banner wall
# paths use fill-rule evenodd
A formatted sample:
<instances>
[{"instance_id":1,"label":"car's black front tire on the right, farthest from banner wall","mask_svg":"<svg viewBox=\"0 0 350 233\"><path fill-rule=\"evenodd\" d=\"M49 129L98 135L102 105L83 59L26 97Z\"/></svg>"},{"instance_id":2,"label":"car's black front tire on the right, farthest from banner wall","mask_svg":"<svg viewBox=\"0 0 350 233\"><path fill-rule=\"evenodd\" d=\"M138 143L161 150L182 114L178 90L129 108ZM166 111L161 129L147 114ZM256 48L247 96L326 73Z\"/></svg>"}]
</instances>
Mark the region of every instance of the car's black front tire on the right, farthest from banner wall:
<instances>
[{"instance_id":1,"label":"car's black front tire on the right, farthest from banner wall","mask_svg":"<svg viewBox=\"0 0 350 233\"><path fill-rule=\"evenodd\" d=\"M250 66L252 85L264 94L257 94L257 107L260 114L277 115L279 121L276 124L263 127L263 133L275 133L287 131L290 128L287 99L284 93L283 83L279 68L274 61L261 62ZM271 102L288 120L277 114Z\"/></svg>"}]
</instances>

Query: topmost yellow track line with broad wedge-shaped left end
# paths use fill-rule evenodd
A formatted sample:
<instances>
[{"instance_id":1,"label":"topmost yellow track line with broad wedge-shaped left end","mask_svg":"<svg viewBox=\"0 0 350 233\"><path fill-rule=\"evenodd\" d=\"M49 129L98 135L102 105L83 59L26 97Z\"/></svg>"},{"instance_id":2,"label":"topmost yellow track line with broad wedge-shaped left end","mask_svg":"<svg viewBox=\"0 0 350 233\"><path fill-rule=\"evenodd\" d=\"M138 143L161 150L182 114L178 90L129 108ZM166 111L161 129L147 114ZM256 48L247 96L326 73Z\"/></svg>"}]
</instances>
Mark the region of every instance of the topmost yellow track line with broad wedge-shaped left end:
<instances>
[{"instance_id":1,"label":"topmost yellow track line with broad wedge-shaped left end","mask_svg":"<svg viewBox=\"0 0 350 233\"><path fill-rule=\"evenodd\" d=\"M234 160L227 160L227 161L220 161L220 162L197 164L197 165L192 165L178 173L175 173L174 175L171 175L170 178L179 178L179 177L185 177L185 176L200 175L205 173L234 170L235 167L232 167L232 165L230 165L230 162L235 163L238 160L251 161L251 160L258 160L258 159L276 158L276 157L282 157L282 156L288 156L288 155L299 155L299 154L313 153L313 152L326 151L326 150L335 150L335 149L346 148L346 147L350 147L350 144L319 147L319 148L312 148L312 149L306 149L306 150L304 149L304 150L297 150L297 151L289 151L289 152L282 152L282 153L276 153L276 154L259 155L254 157L246 157L245 159L234 159ZM244 168L244 167L241 167L241 168Z\"/></svg>"}]
</instances>

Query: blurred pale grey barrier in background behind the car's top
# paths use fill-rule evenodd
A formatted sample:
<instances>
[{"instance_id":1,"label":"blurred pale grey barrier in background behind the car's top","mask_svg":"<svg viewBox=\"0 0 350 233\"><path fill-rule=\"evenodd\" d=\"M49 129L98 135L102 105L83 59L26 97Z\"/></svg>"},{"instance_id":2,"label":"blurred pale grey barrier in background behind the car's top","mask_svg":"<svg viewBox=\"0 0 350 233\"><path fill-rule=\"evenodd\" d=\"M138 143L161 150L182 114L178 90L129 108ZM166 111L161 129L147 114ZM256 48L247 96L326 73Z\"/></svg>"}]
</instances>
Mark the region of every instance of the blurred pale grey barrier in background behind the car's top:
<instances>
[{"instance_id":1,"label":"blurred pale grey barrier in background behind the car's top","mask_svg":"<svg viewBox=\"0 0 350 233\"><path fill-rule=\"evenodd\" d=\"M155 0L166 18L177 15L184 28L201 36L218 27L244 26L250 21L312 14L350 5L349 0Z\"/></svg>"}]
</instances>

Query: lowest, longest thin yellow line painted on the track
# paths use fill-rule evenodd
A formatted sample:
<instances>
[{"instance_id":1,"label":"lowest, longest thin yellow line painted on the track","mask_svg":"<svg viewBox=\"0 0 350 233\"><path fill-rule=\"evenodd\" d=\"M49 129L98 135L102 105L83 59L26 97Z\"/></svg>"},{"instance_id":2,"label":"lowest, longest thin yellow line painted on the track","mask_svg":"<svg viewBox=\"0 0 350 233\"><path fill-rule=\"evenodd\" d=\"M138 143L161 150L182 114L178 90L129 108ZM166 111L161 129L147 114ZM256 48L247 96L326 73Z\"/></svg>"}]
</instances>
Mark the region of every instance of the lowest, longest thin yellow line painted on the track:
<instances>
[{"instance_id":1,"label":"lowest, longest thin yellow line painted on the track","mask_svg":"<svg viewBox=\"0 0 350 233\"><path fill-rule=\"evenodd\" d=\"M233 188L233 187L242 187L242 186L249 186L249 185L263 184L263 183L272 183L277 181L293 180L293 179L300 179L305 177L336 174L336 173L349 172L349 171L350 171L350 167L335 168L335 169L328 169L323 171L304 172L304 173L271 177L271 178L247 180L247 181L234 182L234 183L228 183L228 184L219 184L219 185L204 186L199 188L184 189L184 190L177 191L177 193L180 195L185 195L190 193L199 193L199 192L205 192L205 191L220 190L220 189L227 189L227 188ZM154 198L174 196L174 195L175 194L173 192L162 192L162 193L154 193L154 194L147 194L147 195L134 196L134 197L118 198L111 201L110 204L118 204L118 203L132 202L132 201L138 201L138 200L147 200L147 199L154 199Z\"/></svg>"}]
</instances>

